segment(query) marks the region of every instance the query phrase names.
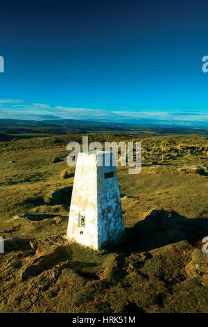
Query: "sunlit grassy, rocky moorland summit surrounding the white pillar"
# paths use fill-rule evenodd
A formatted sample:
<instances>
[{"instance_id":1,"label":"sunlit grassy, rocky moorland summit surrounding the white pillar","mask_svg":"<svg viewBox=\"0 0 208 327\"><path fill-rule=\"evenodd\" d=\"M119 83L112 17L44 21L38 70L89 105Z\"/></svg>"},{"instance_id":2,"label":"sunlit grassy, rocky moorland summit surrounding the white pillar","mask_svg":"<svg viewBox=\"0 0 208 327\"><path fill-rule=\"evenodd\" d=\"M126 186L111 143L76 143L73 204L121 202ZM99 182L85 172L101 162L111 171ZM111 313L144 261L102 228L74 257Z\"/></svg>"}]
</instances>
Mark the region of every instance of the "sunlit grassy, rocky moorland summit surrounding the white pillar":
<instances>
[{"instance_id":1,"label":"sunlit grassy, rocky moorland summit surrounding the white pillar","mask_svg":"<svg viewBox=\"0 0 208 327\"><path fill-rule=\"evenodd\" d=\"M100 252L63 237L69 141L82 135L0 143L0 312L208 312L207 138L89 134L143 152L139 175L117 169L126 239Z\"/></svg>"}]
</instances>

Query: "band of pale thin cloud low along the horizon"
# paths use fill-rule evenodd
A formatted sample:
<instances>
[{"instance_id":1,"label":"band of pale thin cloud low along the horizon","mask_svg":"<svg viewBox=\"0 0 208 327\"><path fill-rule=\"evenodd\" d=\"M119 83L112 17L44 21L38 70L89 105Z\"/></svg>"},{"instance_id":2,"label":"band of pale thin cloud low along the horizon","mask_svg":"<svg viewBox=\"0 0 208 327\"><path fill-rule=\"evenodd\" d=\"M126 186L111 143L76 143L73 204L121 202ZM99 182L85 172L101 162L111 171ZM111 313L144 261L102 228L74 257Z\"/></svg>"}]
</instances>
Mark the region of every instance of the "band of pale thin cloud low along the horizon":
<instances>
[{"instance_id":1,"label":"band of pale thin cloud low along the horizon","mask_svg":"<svg viewBox=\"0 0 208 327\"><path fill-rule=\"evenodd\" d=\"M3 104L3 107L1 106ZM23 102L18 99L0 99L0 118L44 120L50 119L75 119L96 120L102 122L126 122L138 125L182 125L208 126L208 114L200 111L147 111L137 110L104 110L66 106L50 106Z\"/></svg>"}]
</instances>

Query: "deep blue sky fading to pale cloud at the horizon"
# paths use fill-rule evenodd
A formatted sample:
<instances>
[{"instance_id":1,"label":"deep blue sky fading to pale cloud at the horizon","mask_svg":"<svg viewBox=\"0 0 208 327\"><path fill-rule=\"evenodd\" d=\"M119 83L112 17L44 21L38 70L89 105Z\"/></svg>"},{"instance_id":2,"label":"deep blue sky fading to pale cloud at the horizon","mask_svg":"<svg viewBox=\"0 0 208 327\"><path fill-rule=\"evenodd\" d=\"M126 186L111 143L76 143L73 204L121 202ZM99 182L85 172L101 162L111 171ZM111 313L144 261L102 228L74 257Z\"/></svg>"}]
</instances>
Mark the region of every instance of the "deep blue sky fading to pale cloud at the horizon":
<instances>
[{"instance_id":1,"label":"deep blue sky fading to pale cloud at the horizon","mask_svg":"<svg viewBox=\"0 0 208 327\"><path fill-rule=\"evenodd\" d=\"M3 1L0 118L208 126L208 2Z\"/></svg>"}]
</instances>

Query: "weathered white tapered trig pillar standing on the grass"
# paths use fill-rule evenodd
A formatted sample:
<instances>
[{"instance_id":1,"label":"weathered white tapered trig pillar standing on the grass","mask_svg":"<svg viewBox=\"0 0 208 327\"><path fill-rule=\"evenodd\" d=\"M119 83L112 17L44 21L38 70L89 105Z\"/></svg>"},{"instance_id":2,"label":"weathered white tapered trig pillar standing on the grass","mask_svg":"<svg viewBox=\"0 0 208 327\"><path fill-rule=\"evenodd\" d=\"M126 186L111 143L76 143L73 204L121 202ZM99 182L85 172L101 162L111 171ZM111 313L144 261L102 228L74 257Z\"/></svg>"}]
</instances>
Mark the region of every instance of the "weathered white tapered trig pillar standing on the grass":
<instances>
[{"instance_id":1,"label":"weathered white tapered trig pillar standing on the grass","mask_svg":"<svg viewBox=\"0 0 208 327\"><path fill-rule=\"evenodd\" d=\"M69 240L98 250L121 241L123 214L113 163L113 152L78 154L67 230Z\"/></svg>"}]
</instances>

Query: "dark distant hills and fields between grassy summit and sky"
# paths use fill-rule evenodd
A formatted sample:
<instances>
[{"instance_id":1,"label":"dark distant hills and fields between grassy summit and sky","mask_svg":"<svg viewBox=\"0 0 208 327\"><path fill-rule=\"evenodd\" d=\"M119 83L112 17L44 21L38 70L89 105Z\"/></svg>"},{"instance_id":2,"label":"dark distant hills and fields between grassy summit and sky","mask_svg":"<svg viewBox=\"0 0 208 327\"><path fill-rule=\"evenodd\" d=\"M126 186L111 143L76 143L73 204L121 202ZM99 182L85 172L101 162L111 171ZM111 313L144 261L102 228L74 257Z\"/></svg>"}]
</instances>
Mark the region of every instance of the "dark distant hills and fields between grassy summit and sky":
<instances>
[{"instance_id":1,"label":"dark distant hills and fields between grassy summit and sky","mask_svg":"<svg viewBox=\"0 0 208 327\"><path fill-rule=\"evenodd\" d=\"M13 138L33 138L64 134L123 133L141 136L171 134L198 134L208 137L208 128L200 127L156 127L153 125L125 124L119 122L96 122L89 120L16 120L0 119L0 141Z\"/></svg>"}]
</instances>

